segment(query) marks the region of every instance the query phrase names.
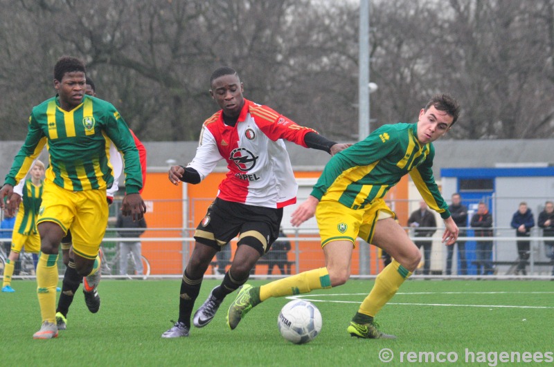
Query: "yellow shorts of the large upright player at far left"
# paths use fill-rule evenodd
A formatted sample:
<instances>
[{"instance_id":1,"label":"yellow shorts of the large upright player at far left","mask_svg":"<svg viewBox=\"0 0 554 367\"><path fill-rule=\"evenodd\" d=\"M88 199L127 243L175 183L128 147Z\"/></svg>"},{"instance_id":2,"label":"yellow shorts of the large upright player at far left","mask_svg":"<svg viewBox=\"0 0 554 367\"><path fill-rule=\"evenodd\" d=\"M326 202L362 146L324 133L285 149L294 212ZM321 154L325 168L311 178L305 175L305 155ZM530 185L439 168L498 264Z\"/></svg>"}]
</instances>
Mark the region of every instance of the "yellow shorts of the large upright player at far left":
<instances>
[{"instance_id":1,"label":"yellow shorts of the large upright player at far left","mask_svg":"<svg viewBox=\"0 0 554 367\"><path fill-rule=\"evenodd\" d=\"M54 222L71 229L75 254L93 260L108 223L106 190L69 191L45 180L37 224Z\"/></svg>"}]
</instances>

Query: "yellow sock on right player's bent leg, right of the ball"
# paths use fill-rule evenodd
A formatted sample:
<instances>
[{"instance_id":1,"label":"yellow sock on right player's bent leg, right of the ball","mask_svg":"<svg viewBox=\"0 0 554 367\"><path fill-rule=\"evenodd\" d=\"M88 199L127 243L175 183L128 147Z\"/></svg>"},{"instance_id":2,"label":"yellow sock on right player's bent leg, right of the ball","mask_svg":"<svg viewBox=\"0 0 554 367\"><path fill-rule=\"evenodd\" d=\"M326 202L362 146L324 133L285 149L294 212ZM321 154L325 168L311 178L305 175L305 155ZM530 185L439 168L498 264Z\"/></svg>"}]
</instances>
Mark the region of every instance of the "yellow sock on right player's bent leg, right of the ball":
<instances>
[{"instance_id":1,"label":"yellow sock on right player's bent leg, right of the ball","mask_svg":"<svg viewBox=\"0 0 554 367\"><path fill-rule=\"evenodd\" d=\"M370 294L359 306L358 312L375 317L377 312L396 294L400 285L411 275L405 267L396 260L388 264L382 272L377 275L375 285Z\"/></svg>"}]
</instances>

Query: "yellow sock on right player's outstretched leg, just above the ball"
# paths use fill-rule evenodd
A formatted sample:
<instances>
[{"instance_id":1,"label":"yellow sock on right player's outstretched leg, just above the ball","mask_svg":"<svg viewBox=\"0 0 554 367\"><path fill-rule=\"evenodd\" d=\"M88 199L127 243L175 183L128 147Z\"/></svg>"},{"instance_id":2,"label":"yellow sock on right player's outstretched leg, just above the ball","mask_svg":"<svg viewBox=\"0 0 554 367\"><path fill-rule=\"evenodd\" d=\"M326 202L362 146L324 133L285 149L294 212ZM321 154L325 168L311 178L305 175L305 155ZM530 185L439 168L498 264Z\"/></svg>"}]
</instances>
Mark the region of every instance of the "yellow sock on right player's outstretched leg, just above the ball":
<instances>
[{"instance_id":1,"label":"yellow sock on right player's outstretched leg, just above the ball","mask_svg":"<svg viewBox=\"0 0 554 367\"><path fill-rule=\"evenodd\" d=\"M269 297L292 296L293 294L307 293L322 288L331 288L331 280L326 267L287 276L278 281L262 285L260 287L260 301L265 301Z\"/></svg>"}]
</instances>

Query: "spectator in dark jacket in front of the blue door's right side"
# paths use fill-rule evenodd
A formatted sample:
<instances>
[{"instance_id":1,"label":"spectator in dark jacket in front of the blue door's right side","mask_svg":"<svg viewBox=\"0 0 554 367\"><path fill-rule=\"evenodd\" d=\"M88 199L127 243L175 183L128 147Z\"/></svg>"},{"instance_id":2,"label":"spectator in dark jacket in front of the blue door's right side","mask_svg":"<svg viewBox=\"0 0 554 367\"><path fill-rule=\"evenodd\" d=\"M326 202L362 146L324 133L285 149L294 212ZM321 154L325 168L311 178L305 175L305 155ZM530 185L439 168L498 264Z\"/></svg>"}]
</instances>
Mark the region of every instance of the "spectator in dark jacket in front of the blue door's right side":
<instances>
[{"instance_id":1,"label":"spectator in dark jacket in front of the blue door's right side","mask_svg":"<svg viewBox=\"0 0 554 367\"><path fill-rule=\"evenodd\" d=\"M475 229L476 237L492 237L492 214L489 213L485 203L479 203L477 212L472 216L471 226ZM477 275L490 275L494 273L492 267L492 241L477 241L475 246ZM482 267L482 272L481 272Z\"/></svg>"}]
</instances>

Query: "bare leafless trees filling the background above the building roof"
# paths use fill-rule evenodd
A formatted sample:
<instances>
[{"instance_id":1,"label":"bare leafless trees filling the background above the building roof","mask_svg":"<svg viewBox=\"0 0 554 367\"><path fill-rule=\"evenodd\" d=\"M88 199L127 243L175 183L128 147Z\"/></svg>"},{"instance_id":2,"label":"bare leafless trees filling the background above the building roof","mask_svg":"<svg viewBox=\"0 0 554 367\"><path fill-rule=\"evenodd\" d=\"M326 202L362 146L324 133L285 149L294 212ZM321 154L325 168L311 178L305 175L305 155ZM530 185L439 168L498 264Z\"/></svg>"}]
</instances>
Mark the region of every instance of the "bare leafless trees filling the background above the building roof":
<instances>
[{"instance_id":1,"label":"bare leafless trees filling the background above the building roof","mask_svg":"<svg viewBox=\"0 0 554 367\"><path fill-rule=\"evenodd\" d=\"M337 140L357 138L357 1L0 0L0 139L53 95L61 55L143 140L194 140L218 66L245 96ZM552 136L554 0L372 0L371 129L458 97L451 138ZM9 128L8 128L9 126Z\"/></svg>"}]
</instances>

